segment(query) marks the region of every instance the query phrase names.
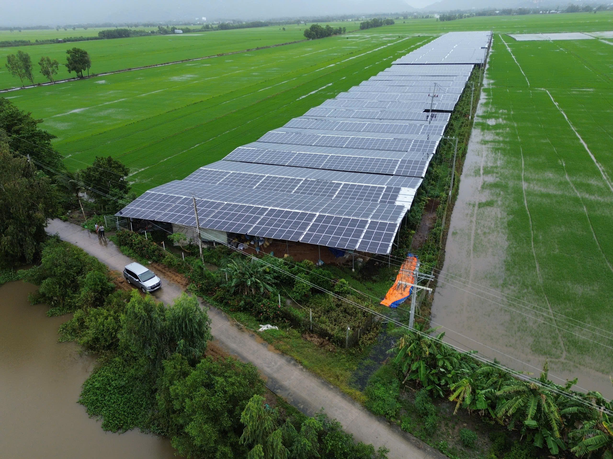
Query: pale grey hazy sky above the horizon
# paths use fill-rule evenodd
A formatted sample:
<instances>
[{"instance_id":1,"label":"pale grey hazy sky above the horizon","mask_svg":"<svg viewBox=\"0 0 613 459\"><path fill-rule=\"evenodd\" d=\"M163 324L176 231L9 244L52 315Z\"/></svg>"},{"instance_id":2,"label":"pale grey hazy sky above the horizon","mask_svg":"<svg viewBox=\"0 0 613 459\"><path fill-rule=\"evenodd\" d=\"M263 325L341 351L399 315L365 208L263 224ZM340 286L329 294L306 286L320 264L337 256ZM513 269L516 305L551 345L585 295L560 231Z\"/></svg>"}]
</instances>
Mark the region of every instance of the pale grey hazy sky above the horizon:
<instances>
[{"instance_id":1,"label":"pale grey hazy sky above the horizon","mask_svg":"<svg viewBox=\"0 0 613 459\"><path fill-rule=\"evenodd\" d=\"M0 26L400 12L436 0L0 0Z\"/></svg>"}]
</instances>

